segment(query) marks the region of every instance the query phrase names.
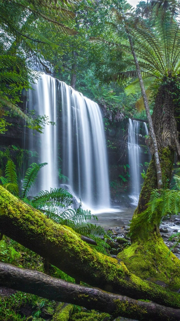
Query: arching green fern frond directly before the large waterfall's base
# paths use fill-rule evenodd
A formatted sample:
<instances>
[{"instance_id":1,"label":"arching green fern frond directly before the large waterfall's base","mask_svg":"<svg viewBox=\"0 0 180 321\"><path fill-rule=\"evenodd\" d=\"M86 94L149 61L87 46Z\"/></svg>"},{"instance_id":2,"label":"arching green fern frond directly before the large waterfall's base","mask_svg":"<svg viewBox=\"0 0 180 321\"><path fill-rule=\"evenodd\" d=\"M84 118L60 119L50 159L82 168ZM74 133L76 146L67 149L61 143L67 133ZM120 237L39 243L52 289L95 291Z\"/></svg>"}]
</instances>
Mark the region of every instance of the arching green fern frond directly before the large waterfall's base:
<instances>
[{"instance_id":1,"label":"arching green fern frond directly before the large waterfall's base","mask_svg":"<svg viewBox=\"0 0 180 321\"><path fill-rule=\"evenodd\" d=\"M68 207L73 203L73 200L72 195L67 190L51 188L50 192L47 190L39 192L32 202L37 208L42 208L47 202L51 202L58 207Z\"/></svg>"}]
</instances>

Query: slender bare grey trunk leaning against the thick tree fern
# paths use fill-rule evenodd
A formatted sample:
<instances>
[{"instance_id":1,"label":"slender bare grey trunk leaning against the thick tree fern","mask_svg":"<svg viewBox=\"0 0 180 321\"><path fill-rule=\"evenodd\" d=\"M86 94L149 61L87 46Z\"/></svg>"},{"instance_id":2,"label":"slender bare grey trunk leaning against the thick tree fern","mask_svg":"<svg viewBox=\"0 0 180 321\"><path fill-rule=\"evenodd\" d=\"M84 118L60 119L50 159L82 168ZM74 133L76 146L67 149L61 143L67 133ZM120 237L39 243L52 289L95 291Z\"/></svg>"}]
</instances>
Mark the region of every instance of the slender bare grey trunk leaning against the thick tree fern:
<instances>
[{"instance_id":1,"label":"slender bare grey trunk leaning against the thick tree fern","mask_svg":"<svg viewBox=\"0 0 180 321\"><path fill-rule=\"evenodd\" d=\"M150 136L151 136L152 143L153 143L153 152L154 152L154 159L155 159L155 164L156 164L157 186L158 186L158 189L161 189L162 188L162 172L161 172L161 166L160 166L160 157L159 157L159 152L158 152L158 145L157 145L157 141L156 141L156 135L155 135L153 124L152 124L152 118L151 118L151 114L150 114L150 110L149 110L149 104L148 104L148 100L147 100L147 96L146 96L146 91L145 91L145 88L144 88L144 83L143 83L143 78L142 78L142 75L141 75L139 63L138 63L138 60L137 60L137 57L136 57L136 54L135 54L133 41L132 41L131 35L129 33L129 30L128 30L127 26L126 26L126 18L125 18L124 15L123 15L123 18L125 20L125 29L126 29L126 32L127 32L127 37L129 39L129 44L130 44L132 55L133 55L133 58L134 58L136 71L137 71L137 76L139 78L139 84L140 84L141 92L142 92L142 96L143 96L144 107L145 107L145 111L146 111L146 115L147 115L147 119L148 119L148 123L149 123L149 131L150 131Z\"/></svg>"}]
</instances>

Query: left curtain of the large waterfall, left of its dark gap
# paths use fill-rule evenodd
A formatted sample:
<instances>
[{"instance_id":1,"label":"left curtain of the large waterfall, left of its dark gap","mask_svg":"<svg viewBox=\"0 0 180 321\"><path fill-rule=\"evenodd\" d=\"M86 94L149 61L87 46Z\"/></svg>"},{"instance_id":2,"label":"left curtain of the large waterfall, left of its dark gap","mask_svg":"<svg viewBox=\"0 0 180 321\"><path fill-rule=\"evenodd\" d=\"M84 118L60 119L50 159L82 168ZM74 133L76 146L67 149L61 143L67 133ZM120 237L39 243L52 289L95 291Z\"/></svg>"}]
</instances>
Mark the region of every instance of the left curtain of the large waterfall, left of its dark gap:
<instances>
[{"instance_id":1,"label":"left curtain of the large waterfall, left of its dark gap","mask_svg":"<svg viewBox=\"0 0 180 321\"><path fill-rule=\"evenodd\" d=\"M32 84L29 90L29 109L37 115L46 115L49 121L56 122L57 94L56 81L53 77L41 74L40 80ZM30 149L38 152L38 162L48 164L40 170L35 193L57 187L57 129L56 126L45 125L43 134L30 137ZM37 162L37 160L35 160Z\"/></svg>"}]
</instances>

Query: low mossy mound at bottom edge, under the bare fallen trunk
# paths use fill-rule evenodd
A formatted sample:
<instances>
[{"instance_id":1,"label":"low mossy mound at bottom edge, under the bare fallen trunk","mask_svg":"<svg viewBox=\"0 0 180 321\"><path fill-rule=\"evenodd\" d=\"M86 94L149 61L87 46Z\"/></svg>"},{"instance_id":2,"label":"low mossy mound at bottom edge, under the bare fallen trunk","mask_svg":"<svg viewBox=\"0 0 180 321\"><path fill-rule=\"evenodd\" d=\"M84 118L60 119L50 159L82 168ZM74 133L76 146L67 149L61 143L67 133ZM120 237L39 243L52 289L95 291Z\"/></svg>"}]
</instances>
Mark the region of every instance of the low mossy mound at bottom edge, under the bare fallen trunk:
<instances>
[{"instance_id":1,"label":"low mossy mound at bottom edge, under the bare fallen trunk","mask_svg":"<svg viewBox=\"0 0 180 321\"><path fill-rule=\"evenodd\" d=\"M95 310L91 310L89 312L78 312L73 314L70 317L70 321L103 321L103 320L110 320L110 315L107 313L99 313Z\"/></svg>"}]
</instances>

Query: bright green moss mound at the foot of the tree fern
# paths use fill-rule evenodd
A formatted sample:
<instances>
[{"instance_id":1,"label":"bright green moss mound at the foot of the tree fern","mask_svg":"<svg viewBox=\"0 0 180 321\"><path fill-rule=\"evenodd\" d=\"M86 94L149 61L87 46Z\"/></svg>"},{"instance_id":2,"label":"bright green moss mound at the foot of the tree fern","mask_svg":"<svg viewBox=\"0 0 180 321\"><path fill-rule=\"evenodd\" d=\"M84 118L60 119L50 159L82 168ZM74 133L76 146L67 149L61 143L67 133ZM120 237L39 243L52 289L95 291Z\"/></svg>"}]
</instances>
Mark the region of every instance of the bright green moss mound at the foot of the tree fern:
<instances>
[{"instance_id":1,"label":"bright green moss mound at the foot of the tree fern","mask_svg":"<svg viewBox=\"0 0 180 321\"><path fill-rule=\"evenodd\" d=\"M180 287L180 261L173 253L169 253L162 238L135 242L120 252L118 258L125 262L129 271L142 279L154 277L172 287Z\"/></svg>"}]
</instances>

